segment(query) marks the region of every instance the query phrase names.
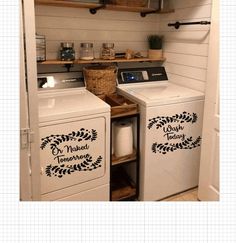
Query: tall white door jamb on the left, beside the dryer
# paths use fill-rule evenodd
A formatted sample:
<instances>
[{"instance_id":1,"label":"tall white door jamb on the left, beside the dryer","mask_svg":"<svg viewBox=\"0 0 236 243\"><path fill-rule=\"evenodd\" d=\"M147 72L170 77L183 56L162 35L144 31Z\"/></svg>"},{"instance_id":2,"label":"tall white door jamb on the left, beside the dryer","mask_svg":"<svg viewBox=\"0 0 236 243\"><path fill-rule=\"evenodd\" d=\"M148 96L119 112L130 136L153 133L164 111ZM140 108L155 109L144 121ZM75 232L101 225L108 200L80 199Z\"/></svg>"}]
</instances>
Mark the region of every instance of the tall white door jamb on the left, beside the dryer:
<instances>
[{"instance_id":1,"label":"tall white door jamb on the left, beside the dryer","mask_svg":"<svg viewBox=\"0 0 236 243\"><path fill-rule=\"evenodd\" d=\"M32 200L38 201L40 192L40 155L39 155L39 126L38 126L38 90L37 90L37 63L35 41L35 8L34 1L22 0L24 52L25 52L25 79L27 83L29 128L31 134L31 192Z\"/></svg>"}]
</instances>

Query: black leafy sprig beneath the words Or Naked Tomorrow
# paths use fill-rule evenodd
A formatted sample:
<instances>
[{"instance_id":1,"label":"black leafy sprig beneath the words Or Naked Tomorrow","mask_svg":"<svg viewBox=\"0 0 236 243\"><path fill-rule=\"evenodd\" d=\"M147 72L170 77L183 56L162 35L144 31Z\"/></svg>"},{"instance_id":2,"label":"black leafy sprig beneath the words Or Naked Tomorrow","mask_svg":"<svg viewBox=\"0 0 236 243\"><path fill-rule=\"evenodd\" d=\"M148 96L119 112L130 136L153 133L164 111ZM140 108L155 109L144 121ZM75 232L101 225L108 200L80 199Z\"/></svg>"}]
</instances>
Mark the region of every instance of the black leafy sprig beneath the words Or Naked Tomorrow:
<instances>
[{"instance_id":1,"label":"black leafy sprig beneath the words Or Naked Tomorrow","mask_svg":"<svg viewBox=\"0 0 236 243\"><path fill-rule=\"evenodd\" d=\"M64 175L71 173L75 171L92 171L99 167L101 167L102 162L102 156L99 156L95 162L92 162L92 156L89 156L89 158L86 158L82 163L74 164L74 165L55 165L52 166L51 164L48 165L45 169L45 173L47 176L57 176L59 178L62 178Z\"/></svg>"}]
</instances>

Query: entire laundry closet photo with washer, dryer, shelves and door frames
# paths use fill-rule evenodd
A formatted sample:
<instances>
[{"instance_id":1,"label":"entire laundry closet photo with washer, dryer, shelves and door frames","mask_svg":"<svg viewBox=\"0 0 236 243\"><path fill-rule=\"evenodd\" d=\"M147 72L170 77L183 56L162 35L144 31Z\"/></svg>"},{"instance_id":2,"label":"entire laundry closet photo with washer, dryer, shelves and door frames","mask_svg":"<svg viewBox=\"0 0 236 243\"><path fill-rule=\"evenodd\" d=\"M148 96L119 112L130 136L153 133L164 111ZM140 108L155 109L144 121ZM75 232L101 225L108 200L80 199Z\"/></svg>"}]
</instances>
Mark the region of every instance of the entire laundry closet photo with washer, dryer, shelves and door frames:
<instances>
[{"instance_id":1,"label":"entire laundry closet photo with washer, dryer, shelves and door frames","mask_svg":"<svg viewBox=\"0 0 236 243\"><path fill-rule=\"evenodd\" d=\"M23 0L21 201L219 201L218 0Z\"/></svg>"}]
</instances>

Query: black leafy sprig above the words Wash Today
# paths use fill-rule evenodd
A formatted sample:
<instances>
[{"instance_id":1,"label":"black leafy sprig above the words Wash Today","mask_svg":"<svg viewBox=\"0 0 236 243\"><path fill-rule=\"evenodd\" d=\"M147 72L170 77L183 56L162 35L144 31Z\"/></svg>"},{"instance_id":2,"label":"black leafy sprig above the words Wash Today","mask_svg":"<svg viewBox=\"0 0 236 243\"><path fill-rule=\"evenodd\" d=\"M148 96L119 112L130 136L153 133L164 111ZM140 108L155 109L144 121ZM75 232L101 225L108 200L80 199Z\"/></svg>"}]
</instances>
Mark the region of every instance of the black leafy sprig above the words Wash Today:
<instances>
[{"instance_id":1,"label":"black leafy sprig above the words Wash Today","mask_svg":"<svg viewBox=\"0 0 236 243\"><path fill-rule=\"evenodd\" d=\"M197 121L197 118L198 117L196 113L190 114L186 111L184 111L181 114L175 114L174 116L157 116L155 118L149 119L148 129L151 129L154 124L156 124L156 129L158 129L166 125L167 123L172 123L172 122L195 123Z\"/></svg>"}]
</instances>

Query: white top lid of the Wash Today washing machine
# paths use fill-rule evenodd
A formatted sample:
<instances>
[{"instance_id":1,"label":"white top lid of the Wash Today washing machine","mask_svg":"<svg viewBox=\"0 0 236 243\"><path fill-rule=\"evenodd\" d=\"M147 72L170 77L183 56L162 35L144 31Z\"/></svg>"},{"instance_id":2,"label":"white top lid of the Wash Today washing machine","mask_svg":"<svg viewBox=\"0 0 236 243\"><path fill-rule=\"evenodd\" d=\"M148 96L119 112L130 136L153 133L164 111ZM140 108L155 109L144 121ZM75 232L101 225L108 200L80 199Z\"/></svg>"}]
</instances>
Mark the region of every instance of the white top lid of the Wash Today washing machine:
<instances>
[{"instance_id":1,"label":"white top lid of the Wash Today washing machine","mask_svg":"<svg viewBox=\"0 0 236 243\"><path fill-rule=\"evenodd\" d=\"M204 99L201 92L172 83L120 88L147 106Z\"/></svg>"}]
</instances>

